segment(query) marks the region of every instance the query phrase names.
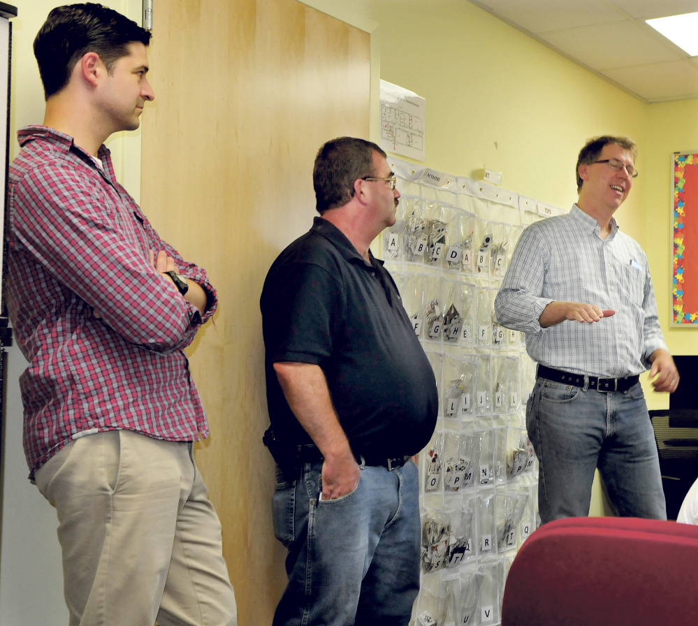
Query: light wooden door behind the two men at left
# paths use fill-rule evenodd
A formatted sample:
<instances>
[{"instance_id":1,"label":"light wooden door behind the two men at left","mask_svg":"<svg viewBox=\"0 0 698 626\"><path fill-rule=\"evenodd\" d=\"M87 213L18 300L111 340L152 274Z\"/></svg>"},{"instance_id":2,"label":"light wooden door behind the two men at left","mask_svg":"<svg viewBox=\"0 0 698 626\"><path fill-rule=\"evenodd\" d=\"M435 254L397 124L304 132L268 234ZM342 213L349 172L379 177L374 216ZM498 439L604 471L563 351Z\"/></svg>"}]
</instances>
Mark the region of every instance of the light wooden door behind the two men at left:
<instances>
[{"instance_id":1,"label":"light wooden door behind the two men at left","mask_svg":"<svg viewBox=\"0 0 698 626\"><path fill-rule=\"evenodd\" d=\"M326 140L368 138L370 36L296 0L154 6L143 210L208 270L219 310L188 350L212 434L196 460L223 525L241 626L271 622L286 574L273 536L259 294L314 217Z\"/></svg>"}]
</instances>

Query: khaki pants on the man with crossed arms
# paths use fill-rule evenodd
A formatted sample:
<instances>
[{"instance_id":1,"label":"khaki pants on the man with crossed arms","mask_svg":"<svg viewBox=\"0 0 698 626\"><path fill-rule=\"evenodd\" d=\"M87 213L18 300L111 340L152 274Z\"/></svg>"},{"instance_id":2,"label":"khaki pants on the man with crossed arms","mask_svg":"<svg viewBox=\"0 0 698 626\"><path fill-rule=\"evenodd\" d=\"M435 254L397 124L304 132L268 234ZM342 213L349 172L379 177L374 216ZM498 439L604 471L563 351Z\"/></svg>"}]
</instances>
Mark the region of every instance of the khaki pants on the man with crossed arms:
<instances>
[{"instance_id":1,"label":"khaki pants on the man with crossed arms","mask_svg":"<svg viewBox=\"0 0 698 626\"><path fill-rule=\"evenodd\" d=\"M36 485L58 513L71 626L237 624L190 443L98 432L50 458Z\"/></svg>"}]
</instances>

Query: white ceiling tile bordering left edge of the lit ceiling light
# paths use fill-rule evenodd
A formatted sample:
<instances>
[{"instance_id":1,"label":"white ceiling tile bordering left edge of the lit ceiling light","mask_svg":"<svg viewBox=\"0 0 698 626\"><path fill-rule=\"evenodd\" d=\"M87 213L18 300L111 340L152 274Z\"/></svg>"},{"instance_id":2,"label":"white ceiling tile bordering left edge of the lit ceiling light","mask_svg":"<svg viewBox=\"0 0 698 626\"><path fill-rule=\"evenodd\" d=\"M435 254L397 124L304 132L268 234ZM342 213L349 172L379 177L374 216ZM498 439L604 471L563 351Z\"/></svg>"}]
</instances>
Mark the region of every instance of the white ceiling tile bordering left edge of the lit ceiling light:
<instances>
[{"instance_id":1,"label":"white ceiling tile bordering left edge of the lit ceiling light","mask_svg":"<svg viewBox=\"0 0 698 626\"><path fill-rule=\"evenodd\" d=\"M544 33L539 37L595 70L682 58L673 46L658 41L632 20Z\"/></svg>"}]
</instances>

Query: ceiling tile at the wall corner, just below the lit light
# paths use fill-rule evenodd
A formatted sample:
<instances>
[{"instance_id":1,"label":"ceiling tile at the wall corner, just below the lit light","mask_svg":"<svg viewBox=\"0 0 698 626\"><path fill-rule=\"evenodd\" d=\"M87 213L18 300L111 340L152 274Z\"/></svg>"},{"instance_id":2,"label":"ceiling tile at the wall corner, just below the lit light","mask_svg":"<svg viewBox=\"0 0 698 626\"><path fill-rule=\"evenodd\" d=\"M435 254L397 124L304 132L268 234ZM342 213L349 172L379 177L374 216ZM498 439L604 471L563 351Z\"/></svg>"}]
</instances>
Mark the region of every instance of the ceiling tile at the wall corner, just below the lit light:
<instances>
[{"instance_id":1,"label":"ceiling tile at the wall corner, just below the lit light","mask_svg":"<svg viewBox=\"0 0 698 626\"><path fill-rule=\"evenodd\" d=\"M610 68L602 73L650 102L682 99L698 94L698 66L688 59Z\"/></svg>"}]
</instances>

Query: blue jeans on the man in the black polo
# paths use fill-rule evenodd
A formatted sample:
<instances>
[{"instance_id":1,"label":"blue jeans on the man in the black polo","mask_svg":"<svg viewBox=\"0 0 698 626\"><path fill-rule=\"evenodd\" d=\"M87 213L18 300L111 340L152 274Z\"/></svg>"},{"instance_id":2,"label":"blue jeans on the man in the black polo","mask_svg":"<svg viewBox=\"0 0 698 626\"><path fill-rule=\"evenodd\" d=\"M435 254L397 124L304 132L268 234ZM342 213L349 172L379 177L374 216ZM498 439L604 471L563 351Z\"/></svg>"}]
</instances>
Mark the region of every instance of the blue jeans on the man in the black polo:
<instances>
[{"instance_id":1,"label":"blue jeans on the man in the black polo","mask_svg":"<svg viewBox=\"0 0 698 626\"><path fill-rule=\"evenodd\" d=\"M277 539L289 549L274 626L407 626L419 591L419 480L408 461L363 467L358 486L318 502L322 463L277 470Z\"/></svg>"}]
</instances>

